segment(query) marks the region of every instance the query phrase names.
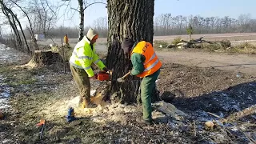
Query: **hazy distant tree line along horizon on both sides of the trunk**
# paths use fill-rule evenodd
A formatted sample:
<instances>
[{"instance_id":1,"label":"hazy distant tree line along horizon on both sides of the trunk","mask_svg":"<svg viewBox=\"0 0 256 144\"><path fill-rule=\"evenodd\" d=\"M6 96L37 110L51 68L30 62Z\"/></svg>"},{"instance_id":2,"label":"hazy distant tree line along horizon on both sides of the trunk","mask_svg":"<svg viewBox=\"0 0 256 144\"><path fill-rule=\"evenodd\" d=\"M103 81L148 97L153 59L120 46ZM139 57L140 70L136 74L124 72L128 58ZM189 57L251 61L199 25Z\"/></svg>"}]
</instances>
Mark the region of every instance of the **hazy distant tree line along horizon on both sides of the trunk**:
<instances>
[{"instance_id":1,"label":"hazy distant tree line along horizon on both sides of the trunk","mask_svg":"<svg viewBox=\"0 0 256 144\"><path fill-rule=\"evenodd\" d=\"M171 14L161 14L154 18L154 35L177 35L187 34L186 29L192 26L194 34L223 34L223 33L250 33L256 32L256 19L251 18L250 14L241 14L238 18L225 16L202 17L200 15L190 15L188 17ZM107 36L107 18L98 18L93 22L93 26L86 26L84 34L93 27L102 38ZM62 37L68 34L70 38L78 38L78 27L59 26L52 28L48 35L52 37ZM40 33L40 30L35 30Z\"/></svg>"}]
</instances>

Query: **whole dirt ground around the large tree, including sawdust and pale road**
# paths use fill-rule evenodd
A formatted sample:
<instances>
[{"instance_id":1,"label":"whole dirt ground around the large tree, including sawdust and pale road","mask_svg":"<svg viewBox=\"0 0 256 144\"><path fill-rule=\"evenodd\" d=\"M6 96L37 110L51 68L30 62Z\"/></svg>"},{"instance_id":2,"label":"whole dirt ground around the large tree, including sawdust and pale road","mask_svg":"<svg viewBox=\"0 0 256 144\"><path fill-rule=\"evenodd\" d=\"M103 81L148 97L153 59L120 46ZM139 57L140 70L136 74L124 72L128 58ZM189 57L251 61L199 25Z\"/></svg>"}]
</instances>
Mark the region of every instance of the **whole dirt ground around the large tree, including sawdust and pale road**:
<instances>
[{"instance_id":1,"label":"whole dirt ground around the large tree, including sawdust and pale road","mask_svg":"<svg viewBox=\"0 0 256 144\"><path fill-rule=\"evenodd\" d=\"M1 61L0 67L3 81L0 87L12 87L11 109L3 111L5 118L0 120L2 143L256 142L255 67L230 68L236 64L255 66L254 57L158 52L163 62L158 90L161 94L165 91L174 94L170 103L185 114L176 118L154 107L154 118L160 124L144 126L135 121L142 115L141 106L110 102L96 109L75 109L78 119L66 122L67 108L70 102L77 102L78 96L70 72L64 74L59 63L25 66L30 56L10 52L17 55L12 60ZM225 59L225 62L211 63L208 58ZM93 90L102 84L91 83ZM42 118L47 122L40 140L40 128L35 125ZM222 118L226 118L226 122L221 122ZM211 130L204 127L206 121L214 122Z\"/></svg>"}]
</instances>

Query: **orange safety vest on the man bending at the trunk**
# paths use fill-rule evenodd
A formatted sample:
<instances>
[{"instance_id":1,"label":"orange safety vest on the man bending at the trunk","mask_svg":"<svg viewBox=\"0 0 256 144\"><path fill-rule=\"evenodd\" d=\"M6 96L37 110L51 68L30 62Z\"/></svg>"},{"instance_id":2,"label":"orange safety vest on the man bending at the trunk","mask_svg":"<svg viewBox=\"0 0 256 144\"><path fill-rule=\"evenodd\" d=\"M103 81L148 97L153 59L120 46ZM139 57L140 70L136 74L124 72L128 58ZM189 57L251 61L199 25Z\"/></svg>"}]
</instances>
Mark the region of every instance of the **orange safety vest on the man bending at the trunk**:
<instances>
[{"instance_id":1,"label":"orange safety vest on the man bending at the trunk","mask_svg":"<svg viewBox=\"0 0 256 144\"><path fill-rule=\"evenodd\" d=\"M157 54L154 52L154 48L150 42L138 42L134 47L134 50L131 54L138 53L145 56L144 71L141 74L136 75L137 77L144 78L148 75L154 74L157 70L160 69L162 63L158 59Z\"/></svg>"}]
</instances>

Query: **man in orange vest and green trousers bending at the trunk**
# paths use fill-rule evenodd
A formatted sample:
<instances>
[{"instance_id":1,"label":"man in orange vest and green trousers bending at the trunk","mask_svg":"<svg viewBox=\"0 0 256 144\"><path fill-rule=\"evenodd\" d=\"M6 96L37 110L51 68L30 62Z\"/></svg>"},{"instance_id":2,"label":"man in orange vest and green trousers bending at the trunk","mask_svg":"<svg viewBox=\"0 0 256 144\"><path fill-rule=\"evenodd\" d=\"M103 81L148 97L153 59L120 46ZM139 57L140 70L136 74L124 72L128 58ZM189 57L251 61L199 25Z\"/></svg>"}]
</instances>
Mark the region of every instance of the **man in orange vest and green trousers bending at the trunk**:
<instances>
[{"instance_id":1,"label":"man in orange vest and green trousers bending at the trunk","mask_svg":"<svg viewBox=\"0 0 256 144\"><path fill-rule=\"evenodd\" d=\"M155 81L160 74L162 63L150 42L134 42L130 38L125 38L122 42L122 49L128 54L133 64L131 75L142 78L141 98L143 106L143 118L137 118L137 122L152 124L151 98L155 86Z\"/></svg>"}]
</instances>

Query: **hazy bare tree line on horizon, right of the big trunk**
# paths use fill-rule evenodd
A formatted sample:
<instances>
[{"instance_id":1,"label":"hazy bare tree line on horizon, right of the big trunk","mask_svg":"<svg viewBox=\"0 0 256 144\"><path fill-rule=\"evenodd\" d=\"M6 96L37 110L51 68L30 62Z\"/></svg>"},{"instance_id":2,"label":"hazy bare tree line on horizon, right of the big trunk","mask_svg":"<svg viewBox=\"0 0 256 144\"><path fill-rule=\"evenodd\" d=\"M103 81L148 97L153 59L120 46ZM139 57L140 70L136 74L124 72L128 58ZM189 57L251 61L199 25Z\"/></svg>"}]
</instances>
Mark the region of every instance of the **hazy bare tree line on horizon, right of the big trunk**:
<instances>
[{"instance_id":1,"label":"hazy bare tree line on horizon, right of the big trunk","mask_svg":"<svg viewBox=\"0 0 256 144\"><path fill-rule=\"evenodd\" d=\"M256 32L256 19L252 19L250 14L241 14L236 19L229 16L219 18L161 14L154 18L154 35L187 34L186 29L190 25L194 34Z\"/></svg>"}]
</instances>

